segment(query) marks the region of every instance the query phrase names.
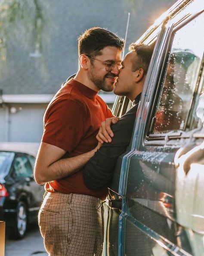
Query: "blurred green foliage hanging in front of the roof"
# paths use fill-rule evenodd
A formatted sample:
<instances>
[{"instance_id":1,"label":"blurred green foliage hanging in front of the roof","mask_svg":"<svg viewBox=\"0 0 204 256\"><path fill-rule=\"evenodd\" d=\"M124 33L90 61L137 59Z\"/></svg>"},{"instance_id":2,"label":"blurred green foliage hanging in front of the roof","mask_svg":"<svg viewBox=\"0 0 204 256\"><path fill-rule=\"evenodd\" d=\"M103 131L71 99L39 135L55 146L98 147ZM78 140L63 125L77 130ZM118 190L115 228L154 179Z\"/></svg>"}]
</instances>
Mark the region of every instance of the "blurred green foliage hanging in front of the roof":
<instances>
[{"instance_id":1,"label":"blurred green foliage hanging in front of the roof","mask_svg":"<svg viewBox=\"0 0 204 256\"><path fill-rule=\"evenodd\" d=\"M0 76L6 72L11 42L19 43L40 59L40 70L46 76L45 51L49 45L50 19L46 0L0 1Z\"/></svg>"}]
</instances>

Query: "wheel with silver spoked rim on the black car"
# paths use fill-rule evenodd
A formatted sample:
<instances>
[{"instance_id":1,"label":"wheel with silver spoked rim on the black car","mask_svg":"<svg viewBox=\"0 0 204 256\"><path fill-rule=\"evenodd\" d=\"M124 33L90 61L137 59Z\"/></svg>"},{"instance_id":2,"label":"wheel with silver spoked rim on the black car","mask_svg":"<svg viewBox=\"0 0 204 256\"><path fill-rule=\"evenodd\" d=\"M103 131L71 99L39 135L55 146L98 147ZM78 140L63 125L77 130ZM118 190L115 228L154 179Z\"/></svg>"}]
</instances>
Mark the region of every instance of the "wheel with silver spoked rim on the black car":
<instances>
[{"instance_id":1,"label":"wheel with silver spoked rim on the black car","mask_svg":"<svg viewBox=\"0 0 204 256\"><path fill-rule=\"evenodd\" d=\"M25 236L25 231L28 224L28 211L24 202L19 202L16 208L14 238L21 239Z\"/></svg>"}]
</instances>

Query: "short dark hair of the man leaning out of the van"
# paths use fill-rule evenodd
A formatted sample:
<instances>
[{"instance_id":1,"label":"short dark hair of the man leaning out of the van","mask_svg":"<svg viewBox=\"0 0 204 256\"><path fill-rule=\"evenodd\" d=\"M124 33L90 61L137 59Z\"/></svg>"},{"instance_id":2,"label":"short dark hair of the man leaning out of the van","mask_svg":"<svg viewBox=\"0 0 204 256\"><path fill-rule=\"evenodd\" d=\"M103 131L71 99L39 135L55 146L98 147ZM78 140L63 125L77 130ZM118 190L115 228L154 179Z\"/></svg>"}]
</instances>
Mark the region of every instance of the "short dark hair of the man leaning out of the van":
<instances>
[{"instance_id":1,"label":"short dark hair of the man leaning out of the van","mask_svg":"<svg viewBox=\"0 0 204 256\"><path fill-rule=\"evenodd\" d=\"M144 45L139 44L136 45L132 43L129 46L129 51L136 51L137 58L133 59L132 71L136 71L139 68L142 68L147 73L149 63L151 61L151 55L153 53L155 44L152 45Z\"/></svg>"}]
</instances>

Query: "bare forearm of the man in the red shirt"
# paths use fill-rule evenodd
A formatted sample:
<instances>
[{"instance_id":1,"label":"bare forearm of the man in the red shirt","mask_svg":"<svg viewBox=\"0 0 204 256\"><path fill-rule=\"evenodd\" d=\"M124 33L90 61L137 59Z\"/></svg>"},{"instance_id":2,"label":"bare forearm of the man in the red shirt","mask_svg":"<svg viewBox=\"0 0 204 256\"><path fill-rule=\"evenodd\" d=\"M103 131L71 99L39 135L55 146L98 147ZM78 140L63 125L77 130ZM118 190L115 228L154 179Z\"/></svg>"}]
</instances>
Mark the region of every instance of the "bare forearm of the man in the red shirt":
<instances>
[{"instance_id":1,"label":"bare forearm of the man in the red shirt","mask_svg":"<svg viewBox=\"0 0 204 256\"><path fill-rule=\"evenodd\" d=\"M48 166L42 160L37 160L35 165L35 179L38 184L43 184L56 179L62 179L80 170L88 160L93 157L97 148L76 157L63 158Z\"/></svg>"}]
</instances>

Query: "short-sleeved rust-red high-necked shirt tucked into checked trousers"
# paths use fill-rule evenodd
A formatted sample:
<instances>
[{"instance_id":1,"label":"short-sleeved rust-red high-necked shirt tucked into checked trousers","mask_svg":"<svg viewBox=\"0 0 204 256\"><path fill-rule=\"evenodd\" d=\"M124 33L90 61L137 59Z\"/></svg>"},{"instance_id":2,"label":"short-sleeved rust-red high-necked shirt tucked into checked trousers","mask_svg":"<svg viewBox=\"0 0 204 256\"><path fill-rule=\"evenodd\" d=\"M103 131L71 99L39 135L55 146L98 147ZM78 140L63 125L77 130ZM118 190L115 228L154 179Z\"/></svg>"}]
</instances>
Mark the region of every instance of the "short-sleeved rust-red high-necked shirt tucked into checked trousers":
<instances>
[{"instance_id":1,"label":"short-sleeved rust-red high-necked shirt tucked into checked trousers","mask_svg":"<svg viewBox=\"0 0 204 256\"><path fill-rule=\"evenodd\" d=\"M60 147L67 153L63 158L74 157L97 146L96 134L111 110L89 87L70 80L49 103L44 115L42 141ZM83 182L83 169L64 179L46 183L46 191L79 193L105 199L108 189L88 189Z\"/></svg>"}]
</instances>

